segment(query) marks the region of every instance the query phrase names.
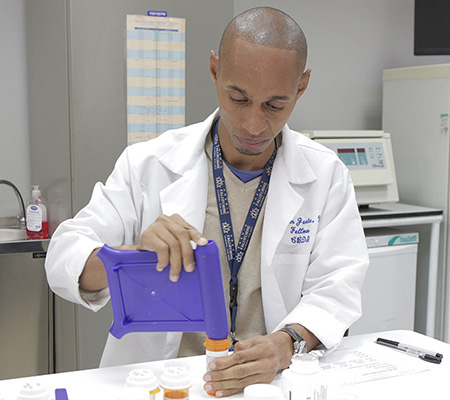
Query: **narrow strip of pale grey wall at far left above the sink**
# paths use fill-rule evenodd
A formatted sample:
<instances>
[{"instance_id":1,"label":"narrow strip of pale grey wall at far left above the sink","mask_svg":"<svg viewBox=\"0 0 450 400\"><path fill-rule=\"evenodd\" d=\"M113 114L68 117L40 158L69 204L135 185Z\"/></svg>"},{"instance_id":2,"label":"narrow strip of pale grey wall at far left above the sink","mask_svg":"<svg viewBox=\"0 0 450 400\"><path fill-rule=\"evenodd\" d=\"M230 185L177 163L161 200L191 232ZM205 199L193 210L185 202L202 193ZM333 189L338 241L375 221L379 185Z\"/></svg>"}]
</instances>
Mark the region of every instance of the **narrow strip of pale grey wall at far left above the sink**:
<instances>
[{"instance_id":1,"label":"narrow strip of pale grey wall at far left above the sink","mask_svg":"<svg viewBox=\"0 0 450 400\"><path fill-rule=\"evenodd\" d=\"M28 199L31 182L25 0L2 0L0 4L0 54L0 179L12 181ZM16 197L2 185L0 217L13 215L18 215Z\"/></svg>"}]
</instances>

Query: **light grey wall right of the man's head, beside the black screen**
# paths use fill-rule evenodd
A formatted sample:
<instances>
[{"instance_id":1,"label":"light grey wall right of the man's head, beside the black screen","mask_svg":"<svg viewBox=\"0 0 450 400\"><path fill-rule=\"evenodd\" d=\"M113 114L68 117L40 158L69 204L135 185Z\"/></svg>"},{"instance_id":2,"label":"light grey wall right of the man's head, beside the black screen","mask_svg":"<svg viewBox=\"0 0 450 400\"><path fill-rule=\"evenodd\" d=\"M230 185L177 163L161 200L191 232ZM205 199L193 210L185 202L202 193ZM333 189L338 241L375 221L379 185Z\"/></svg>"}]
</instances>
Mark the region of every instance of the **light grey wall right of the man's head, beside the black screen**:
<instances>
[{"instance_id":1,"label":"light grey wall right of the man's head, beside the black screen","mask_svg":"<svg viewBox=\"0 0 450 400\"><path fill-rule=\"evenodd\" d=\"M414 56L414 0L235 0L234 12L260 5L287 12L308 40L310 85L289 123L297 130L381 129L383 69L450 63Z\"/></svg>"}]
</instances>

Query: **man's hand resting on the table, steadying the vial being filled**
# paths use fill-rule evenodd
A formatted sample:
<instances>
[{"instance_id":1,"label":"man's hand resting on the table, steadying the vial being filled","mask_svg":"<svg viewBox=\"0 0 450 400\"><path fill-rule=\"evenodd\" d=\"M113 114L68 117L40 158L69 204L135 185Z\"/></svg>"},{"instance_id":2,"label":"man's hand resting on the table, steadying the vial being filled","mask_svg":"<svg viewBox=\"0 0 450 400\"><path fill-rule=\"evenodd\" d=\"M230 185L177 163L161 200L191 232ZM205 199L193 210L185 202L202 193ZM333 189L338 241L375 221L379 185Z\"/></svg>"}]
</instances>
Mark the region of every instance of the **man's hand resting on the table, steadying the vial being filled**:
<instances>
[{"instance_id":1,"label":"man's hand resting on the table, steadying the vial being filled","mask_svg":"<svg viewBox=\"0 0 450 400\"><path fill-rule=\"evenodd\" d=\"M211 371L203 376L204 389L222 397L242 392L254 383L270 383L279 370L289 366L291 356L292 340L283 332L238 342L231 356L209 364Z\"/></svg>"}]
</instances>

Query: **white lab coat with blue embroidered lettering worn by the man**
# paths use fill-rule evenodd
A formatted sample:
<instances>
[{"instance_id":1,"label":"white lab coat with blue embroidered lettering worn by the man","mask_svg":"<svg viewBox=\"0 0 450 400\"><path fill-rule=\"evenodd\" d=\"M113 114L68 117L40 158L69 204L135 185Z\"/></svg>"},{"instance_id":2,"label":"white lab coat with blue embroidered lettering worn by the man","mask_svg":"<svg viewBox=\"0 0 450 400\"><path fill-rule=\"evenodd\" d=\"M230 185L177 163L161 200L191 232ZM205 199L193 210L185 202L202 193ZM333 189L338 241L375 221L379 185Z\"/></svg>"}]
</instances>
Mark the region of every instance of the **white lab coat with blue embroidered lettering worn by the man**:
<instances>
[{"instance_id":1,"label":"white lab coat with blue embroidered lettering worn by the man","mask_svg":"<svg viewBox=\"0 0 450 400\"><path fill-rule=\"evenodd\" d=\"M199 231L205 221L208 162L204 122L128 147L89 204L53 235L46 270L52 290L96 311L108 289L82 293L78 279L104 243L136 244L160 214L178 213ZM368 255L350 175L324 146L282 130L266 198L261 287L267 332L300 323L326 348L336 347L361 315ZM309 239L308 239L309 238ZM177 356L181 333L109 335L102 366Z\"/></svg>"}]
</instances>

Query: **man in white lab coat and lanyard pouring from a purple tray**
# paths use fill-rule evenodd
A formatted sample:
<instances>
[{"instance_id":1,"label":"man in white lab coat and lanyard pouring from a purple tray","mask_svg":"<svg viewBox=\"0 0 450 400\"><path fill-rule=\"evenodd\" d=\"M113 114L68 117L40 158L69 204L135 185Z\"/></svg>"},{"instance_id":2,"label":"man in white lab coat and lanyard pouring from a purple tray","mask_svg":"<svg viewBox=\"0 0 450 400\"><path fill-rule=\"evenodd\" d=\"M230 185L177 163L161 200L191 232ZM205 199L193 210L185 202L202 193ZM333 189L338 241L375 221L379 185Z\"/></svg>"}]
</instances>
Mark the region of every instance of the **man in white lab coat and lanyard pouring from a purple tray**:
<instances>
[{"instance_id":1,"label":"man in white lab coat and lanyard pouring from a purple tray","mask_svg":"<svg viewBox=\"0 0 450 400\"><path fill-rule=\"evenodd\" d=\"M286 125L310 79L306 52L285 13L238 15L210 56L218 111L126 149L50 244L52 289L97 310L109 298L96 257L104 243L156 251L157 268L170 263L176 282L195 268L190 241L215 240L226 298L237 296L230 320L239 340L204 375L218 397L273 380L290 363L293 338L307 351L336 347L361 314L368 257L349 173ZM202 342L201 334L110 336L102 365L203 354Z\"/></svg>"}]
</instances>

